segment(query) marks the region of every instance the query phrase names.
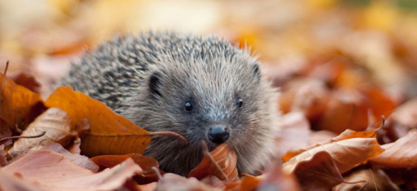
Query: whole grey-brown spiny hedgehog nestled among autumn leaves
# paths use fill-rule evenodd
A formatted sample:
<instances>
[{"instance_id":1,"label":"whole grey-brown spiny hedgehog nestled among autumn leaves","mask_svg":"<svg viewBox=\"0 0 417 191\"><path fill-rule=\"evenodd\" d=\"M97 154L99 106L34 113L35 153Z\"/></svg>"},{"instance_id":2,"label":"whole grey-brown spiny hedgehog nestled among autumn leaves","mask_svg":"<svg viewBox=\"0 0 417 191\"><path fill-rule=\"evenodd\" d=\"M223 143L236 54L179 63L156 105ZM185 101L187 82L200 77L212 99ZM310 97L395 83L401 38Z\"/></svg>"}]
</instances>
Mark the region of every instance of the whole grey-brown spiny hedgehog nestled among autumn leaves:
<instances>
[{"instance_id":1,"label":"whole grey-brown spiny hedgehog nestled among autumn leaves","mask_svg":"<svg viewBox=\"0 0 417 191\"><path fill-rule=\"evenodd\" d=\"M176 33L116 38L86 53L58 85L103 101L148 131L183 135L187 146L156 136L145 152L167 172L188 174L202 158L202 140L210 149L228 144L246 173L264 165L272 149L275 92L250 53L219 38Z\"/></svg>"}]
</instances>

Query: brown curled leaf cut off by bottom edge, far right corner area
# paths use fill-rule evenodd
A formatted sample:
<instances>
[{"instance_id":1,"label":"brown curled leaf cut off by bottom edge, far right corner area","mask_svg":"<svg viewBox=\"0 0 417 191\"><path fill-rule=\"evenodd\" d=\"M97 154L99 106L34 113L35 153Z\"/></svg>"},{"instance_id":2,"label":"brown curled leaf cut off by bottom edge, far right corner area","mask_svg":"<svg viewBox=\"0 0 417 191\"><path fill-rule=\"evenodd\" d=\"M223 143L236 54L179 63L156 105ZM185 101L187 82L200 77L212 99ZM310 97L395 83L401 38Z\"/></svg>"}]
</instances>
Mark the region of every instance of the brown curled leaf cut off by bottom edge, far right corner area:
<instances>
[{"instance_id":1,"label":"brown curled leaf cut off by bottom edge, far right corner area","mask_svg":"<svg viewBox=\"0 0 417 191\"><path fill-rule=\"evenodd\" d=\"M344 178L350 183L341 183L332 190L400 190L381 169L355 169Z\"/></svg>"}]
</instances>

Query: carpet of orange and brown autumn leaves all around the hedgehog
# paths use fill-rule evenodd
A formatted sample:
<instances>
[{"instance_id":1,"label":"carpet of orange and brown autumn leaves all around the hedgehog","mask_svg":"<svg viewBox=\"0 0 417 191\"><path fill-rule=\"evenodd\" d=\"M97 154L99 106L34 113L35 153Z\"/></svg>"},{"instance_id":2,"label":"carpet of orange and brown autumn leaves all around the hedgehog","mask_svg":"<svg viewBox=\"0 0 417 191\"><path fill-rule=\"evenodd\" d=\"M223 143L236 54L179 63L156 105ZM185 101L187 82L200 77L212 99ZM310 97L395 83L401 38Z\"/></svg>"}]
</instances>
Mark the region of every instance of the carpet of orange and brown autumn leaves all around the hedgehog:
<instances>
[{"instance_id":1,"label":"carpet of orange and brown autumn leaves all around the hedgehog","mask_svg":"<svg viewBox=\"0 0 417 191\"><path fill-rule=\"evenodd\" d=\"M0 190L417 190L416 3L33 2L0 2ZM83 50L151 28L259 54L281 92L270 164L240 174L221 144L187 177L163 172L142 156L156 134L70 87L48 92Z\"/></svg>"}]
</instances>

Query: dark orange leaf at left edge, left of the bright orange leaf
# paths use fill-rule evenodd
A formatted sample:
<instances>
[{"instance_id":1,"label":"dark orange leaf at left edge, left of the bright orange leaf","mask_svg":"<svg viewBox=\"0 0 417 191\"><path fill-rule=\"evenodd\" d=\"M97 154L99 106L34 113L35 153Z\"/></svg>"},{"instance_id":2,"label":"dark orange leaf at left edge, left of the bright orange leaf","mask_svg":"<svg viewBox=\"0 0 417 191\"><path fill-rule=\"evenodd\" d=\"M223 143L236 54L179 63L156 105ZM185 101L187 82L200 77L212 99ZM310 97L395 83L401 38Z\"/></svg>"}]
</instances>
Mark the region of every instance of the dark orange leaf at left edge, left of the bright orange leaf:
<instances>
[{"instance_id":1,"label":"dark orange leaf at left edge, left of the bright orange leaf","mask_svg":"<svg viewBox=\"0 0 417 191\"><path fill-rule=\"evenodd\" d=\"M1 126L2 131L16 126L23 130L44 109L42 98L3 74L0 74L0 86L0 118L6 122Z\"/></svg>"}]
</instances>

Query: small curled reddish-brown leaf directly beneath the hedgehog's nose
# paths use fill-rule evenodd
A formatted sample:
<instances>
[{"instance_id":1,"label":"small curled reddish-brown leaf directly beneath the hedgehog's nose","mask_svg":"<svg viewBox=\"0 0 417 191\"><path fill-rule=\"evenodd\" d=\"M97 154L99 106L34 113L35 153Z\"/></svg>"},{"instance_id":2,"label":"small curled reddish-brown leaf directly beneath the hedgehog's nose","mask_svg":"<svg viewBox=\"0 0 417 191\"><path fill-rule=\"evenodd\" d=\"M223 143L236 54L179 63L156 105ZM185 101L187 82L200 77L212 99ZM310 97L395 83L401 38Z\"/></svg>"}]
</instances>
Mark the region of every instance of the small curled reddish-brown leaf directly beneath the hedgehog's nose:
<instances>
[{"instance_id":1,"label":"small curled reddish-brown leaf directly beneath the hedgehog's nose","mask_svg":"<svg viewBox=\"0 0 417 191\"><path fill-rule=\"evenodd\" d=\"M204 144L206 145L206 144ZM188 177L195 177L199 180L213 175L222 181L238 181L238 169L236 169L236 161L238 157L233 149L227 144L220 144L213 151L208 153L205 148L205 156L197 167L191 170Z\"/></svg>"}]
</instances>

